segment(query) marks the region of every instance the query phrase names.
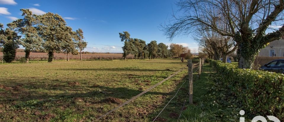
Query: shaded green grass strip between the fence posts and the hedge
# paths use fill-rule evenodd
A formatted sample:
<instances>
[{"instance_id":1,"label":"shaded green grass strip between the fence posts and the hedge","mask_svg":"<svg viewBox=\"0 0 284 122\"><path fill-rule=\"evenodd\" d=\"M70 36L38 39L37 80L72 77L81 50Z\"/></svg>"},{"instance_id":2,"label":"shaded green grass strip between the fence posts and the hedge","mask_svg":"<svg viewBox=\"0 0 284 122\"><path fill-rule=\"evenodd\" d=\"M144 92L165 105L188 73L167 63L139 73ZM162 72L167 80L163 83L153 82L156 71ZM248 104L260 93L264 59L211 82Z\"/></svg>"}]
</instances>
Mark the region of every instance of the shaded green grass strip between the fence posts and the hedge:
<instances>
[{"instance_id":1,"label":"shaded green grass strip between the fence posts and the hedge","mask_svg":"<svg viewBox=\"0 0 284 122\"><path fill-rule=\"evenodd\" d=\"M215 93L210 92L210 88L214 84L210 80L212 75L214 75L213 73L212 68L208 64L204 65L200 79L198 78L198 73L193 73L193 105L186 106L187 109L183 111L183 116L181 116L179 121L218 121L211 118L212 111L218 110L217 106L214 106L215 98L211 96Z\"/></svg>"}]
</instances>

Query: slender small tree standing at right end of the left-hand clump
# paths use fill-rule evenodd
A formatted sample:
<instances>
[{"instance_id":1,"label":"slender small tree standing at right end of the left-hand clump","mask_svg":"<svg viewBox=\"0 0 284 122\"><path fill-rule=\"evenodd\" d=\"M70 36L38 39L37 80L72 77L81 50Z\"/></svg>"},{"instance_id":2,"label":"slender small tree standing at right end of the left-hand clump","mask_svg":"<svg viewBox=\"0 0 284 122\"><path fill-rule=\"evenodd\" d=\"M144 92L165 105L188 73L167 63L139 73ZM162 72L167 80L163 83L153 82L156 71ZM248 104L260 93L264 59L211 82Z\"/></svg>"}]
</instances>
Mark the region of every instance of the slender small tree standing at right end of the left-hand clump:
<instances>
[{"instance_id":1,"label":"slender small tree standing at right end of the left-hand clump","mask_svg":"<svg viewBox=\"0 0 284 122\"><path fill-rule=\"evenodd\" d=\"M83 35L83 30L78 29L76 30L76 36L75 36L75 41L76 41L76 47L79 49L80 52L80 60L82 61L82 51L87 47L87 42L84 41L84 35Z\"/></svg>"}]
</instances>

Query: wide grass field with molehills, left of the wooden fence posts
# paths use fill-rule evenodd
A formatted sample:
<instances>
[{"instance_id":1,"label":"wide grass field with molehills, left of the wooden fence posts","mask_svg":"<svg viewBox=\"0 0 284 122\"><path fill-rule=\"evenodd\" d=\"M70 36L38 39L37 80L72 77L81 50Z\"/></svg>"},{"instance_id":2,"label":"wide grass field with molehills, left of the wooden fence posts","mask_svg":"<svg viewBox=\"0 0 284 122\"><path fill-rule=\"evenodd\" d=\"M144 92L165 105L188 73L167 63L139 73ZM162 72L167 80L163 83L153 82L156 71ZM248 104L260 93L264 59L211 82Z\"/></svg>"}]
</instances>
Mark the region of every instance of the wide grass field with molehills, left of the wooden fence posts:
<instances>
[{"instance_id":1,"label":"wide grass field with molehills, left of the wooden fence posts","mask_svg":"<svg viewBox=\"0 0 284 122\"><path fill-rule=\"evenodd\" d=\"M95 121L185 66L179 59L4 63L0 121ZM151 121L186 74L185 68L99 121ZM185 83L157 121L177 121L187 89Z\"/></svg>"}]
</instances>

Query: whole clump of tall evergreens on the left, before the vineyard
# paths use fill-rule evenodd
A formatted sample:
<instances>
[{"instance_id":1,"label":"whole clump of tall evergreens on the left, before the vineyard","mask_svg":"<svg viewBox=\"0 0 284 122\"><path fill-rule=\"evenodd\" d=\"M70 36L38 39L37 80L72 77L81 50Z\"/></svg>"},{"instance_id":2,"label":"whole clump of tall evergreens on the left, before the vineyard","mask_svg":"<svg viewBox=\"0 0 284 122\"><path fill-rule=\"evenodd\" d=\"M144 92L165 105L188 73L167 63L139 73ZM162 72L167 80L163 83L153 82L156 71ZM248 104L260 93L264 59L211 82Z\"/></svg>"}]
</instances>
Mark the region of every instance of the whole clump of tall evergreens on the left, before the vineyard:
<instances>
[{"instance_id":1,"label":"whole clump of tall evergreens on the left, before the vineyard","mask_svg":"<svg viewBox=\"0 0 284 122\"><path fill-rule=\"evenodd\" d=\"M23 19L17 19L4 29L0 24L0 47L3 47L3 60L12 62L19 45L24 47L26 62L30 52L48 53L48 62L54 59L54 53L81 54L87 46L82 29L72 31L66 21L58 14L33 14L29 9L21 9ZM81 55L80 55L81 57Z\"/></svg>"}]
</instances>

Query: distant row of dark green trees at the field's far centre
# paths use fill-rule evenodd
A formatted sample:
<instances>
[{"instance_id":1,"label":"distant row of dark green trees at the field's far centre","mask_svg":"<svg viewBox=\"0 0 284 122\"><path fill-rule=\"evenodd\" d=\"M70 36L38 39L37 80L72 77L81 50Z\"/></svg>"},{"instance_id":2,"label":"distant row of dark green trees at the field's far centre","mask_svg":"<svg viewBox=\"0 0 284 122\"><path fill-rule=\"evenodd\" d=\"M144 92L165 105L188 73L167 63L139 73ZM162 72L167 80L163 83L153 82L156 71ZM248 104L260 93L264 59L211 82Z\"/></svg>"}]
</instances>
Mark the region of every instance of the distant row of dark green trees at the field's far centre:
<instances>
[{"instance_id":1,"label":"distant row of dark green trees at the field's far centre","mask_svg":"<svg viewBox=\"0 0 284 122\"><path fill-rule=\"evenodd\" d=\"M129 54L135 57L142 58L172 58L180 57L180 54L187 53L186 56L188 59L192 56L190 49L188 47L183 47L179 44L171 44L169 46L164 43L157 44L157 41L151 41L149 44L146 44L146 41L142 39L130 38L130 34L127 31L119 33L120 39L124 42L123 57L126 58Z\"/></svg>"}]
</instances>

